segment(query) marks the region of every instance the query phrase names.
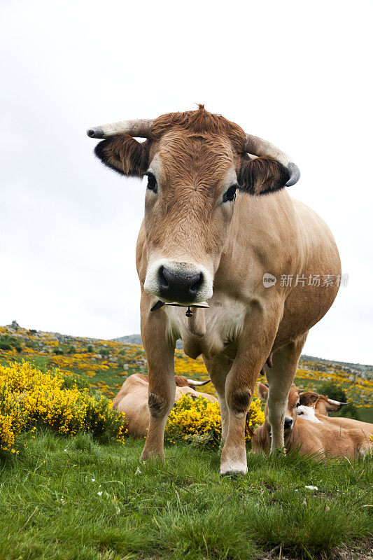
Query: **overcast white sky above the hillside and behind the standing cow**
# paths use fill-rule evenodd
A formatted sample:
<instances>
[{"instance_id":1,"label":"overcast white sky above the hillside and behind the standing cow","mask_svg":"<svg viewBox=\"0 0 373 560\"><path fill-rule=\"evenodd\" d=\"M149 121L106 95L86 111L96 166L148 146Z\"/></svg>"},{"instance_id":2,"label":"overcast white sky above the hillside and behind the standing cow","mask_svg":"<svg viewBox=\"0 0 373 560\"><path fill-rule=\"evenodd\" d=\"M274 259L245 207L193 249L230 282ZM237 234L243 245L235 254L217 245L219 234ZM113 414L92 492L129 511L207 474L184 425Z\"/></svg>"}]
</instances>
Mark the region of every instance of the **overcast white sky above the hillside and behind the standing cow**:
<instances>
[{"instance_id":1,"label":"overcast white sky above the hillside and behind the standing cow","mask_svg":"<svg viewBox=\"0 0 373 560\"><path fill-rule=\"evenodd\" d=\"M1 3L0 324L139 332L145 187L87 127L204 103L293 156L350 275L304 352L373 363L370 1Z\"/></svg>"}]
</instances>

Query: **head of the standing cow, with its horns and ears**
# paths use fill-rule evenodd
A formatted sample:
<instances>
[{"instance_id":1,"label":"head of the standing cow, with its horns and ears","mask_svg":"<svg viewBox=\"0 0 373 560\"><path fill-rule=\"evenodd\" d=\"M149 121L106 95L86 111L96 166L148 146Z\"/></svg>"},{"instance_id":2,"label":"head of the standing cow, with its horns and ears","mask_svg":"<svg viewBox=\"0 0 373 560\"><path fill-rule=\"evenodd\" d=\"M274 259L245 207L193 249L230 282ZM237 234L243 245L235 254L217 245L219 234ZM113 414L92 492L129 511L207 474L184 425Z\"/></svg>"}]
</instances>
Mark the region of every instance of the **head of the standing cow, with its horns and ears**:
<instances>
[{"instance_id":1,"label":"head of the standing cow, with its horns and ears","mask_svg":"<svg viewBox=\"0 0 373 560\"><path fill-rule=\"evenodd\" d=\"M211 297L237 189L265 195L300 176L278 148L203 106L87 134L104 138L95 153L105 165L126 176L148 176L144 288L164 302Z\"/></svg>"}]
</instances>

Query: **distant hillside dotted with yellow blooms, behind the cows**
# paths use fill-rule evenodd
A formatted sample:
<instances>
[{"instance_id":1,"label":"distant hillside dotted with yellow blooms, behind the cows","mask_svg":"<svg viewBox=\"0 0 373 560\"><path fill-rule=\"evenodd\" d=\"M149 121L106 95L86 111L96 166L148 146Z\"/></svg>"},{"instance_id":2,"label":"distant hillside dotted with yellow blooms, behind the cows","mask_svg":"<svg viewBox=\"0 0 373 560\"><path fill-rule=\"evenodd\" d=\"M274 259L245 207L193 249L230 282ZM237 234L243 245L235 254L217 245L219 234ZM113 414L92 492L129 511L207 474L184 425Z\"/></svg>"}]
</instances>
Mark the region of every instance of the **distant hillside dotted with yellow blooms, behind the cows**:
<instances>
[{"instance_id":1,"label":"distant hillside dotted with yellow blooms, behind the cows","mask_svg":"<svg viewBox=\"0 0 373 560\"><path fill-rule=\"evenodd\" d=\"M0 327L0 363L24 359L39 366L83 374L92 390L113 398L128 375L147 372L140 340L139 335L114 340L73 337L22 328L13 321ZM208 377L202 358L192 360L181 349L176 349L175 372L195 379ZM302 356L295 382L304 389L320 392L325 384L332 383L353 400L361 419L373 421L372 366ZM209 384L204 391L214 393L214 388Z\"/></svg>"}]
</instances>

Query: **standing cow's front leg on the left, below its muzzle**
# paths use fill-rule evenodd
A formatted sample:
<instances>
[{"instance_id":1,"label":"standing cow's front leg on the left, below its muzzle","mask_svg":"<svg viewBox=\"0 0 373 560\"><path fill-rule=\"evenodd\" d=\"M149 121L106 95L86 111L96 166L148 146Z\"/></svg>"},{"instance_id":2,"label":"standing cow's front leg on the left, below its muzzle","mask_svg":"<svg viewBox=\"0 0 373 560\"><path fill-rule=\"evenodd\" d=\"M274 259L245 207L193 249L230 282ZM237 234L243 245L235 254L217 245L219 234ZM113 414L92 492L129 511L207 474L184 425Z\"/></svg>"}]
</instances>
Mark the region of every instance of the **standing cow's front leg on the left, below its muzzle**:
<instances>
[{"instance_id":1,"label":"standing cow's front leg on the left, below its muzzle","mask_svg":"<svg viewBox=\"0 0 373 560\"><path fill-rule=\"evenodd\" d=\"M168 337L162 309L150 312L149 297L141 297L141 337L148 362L150 423L141 460L164 458L164 428L174 405L174 344ZM145 300L145 302L144 302ZM143 309L145 307L145 309Z\"/></svg>"}]
</instances>

